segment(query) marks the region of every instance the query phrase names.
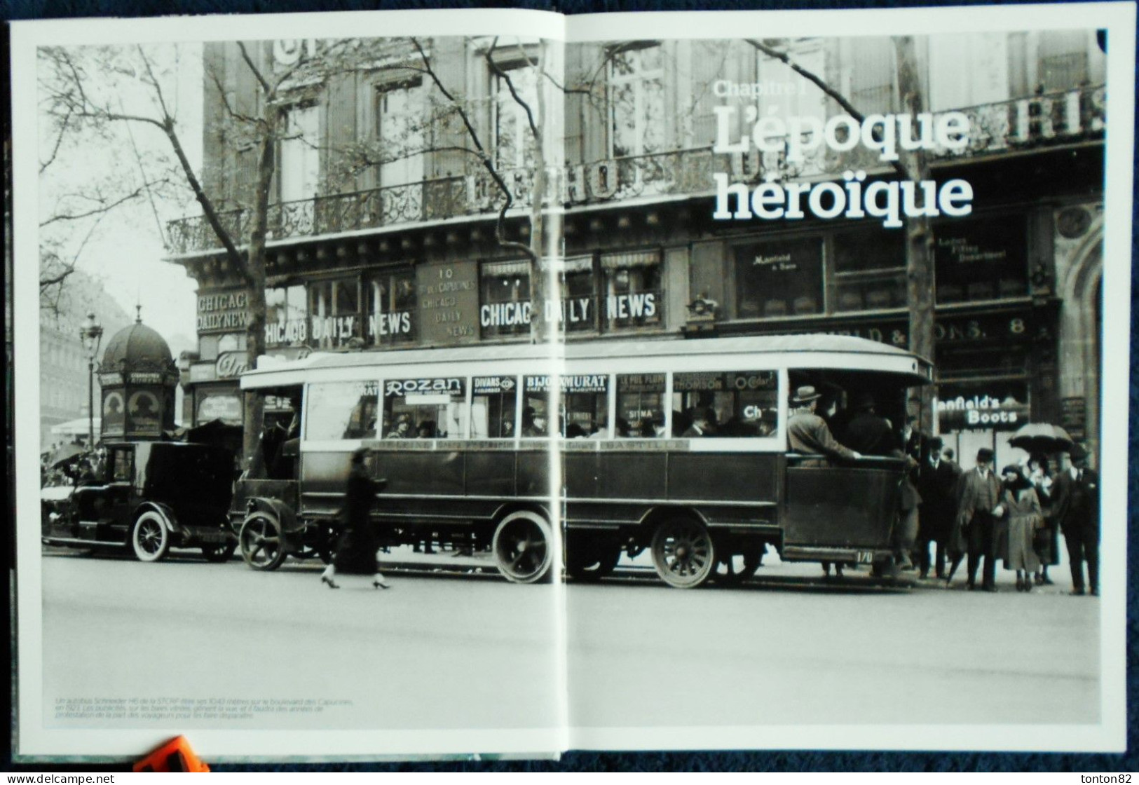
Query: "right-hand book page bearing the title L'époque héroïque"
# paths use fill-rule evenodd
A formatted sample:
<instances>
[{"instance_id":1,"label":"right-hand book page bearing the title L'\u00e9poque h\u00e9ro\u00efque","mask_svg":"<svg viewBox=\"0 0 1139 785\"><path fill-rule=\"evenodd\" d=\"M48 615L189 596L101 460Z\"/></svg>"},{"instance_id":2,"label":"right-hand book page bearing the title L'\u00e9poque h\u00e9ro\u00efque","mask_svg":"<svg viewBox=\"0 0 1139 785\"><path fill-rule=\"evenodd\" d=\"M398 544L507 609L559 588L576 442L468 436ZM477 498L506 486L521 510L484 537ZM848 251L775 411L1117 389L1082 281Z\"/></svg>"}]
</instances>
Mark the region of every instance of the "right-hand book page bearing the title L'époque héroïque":
<instances>
[{"instance_id":1,"label":"right-hand book page bearing the title L'\u00e9poque h\u00e9ro\u00efque","mask_svg":"<svg viewBox=\"0 0 1139 785\"><path fill-rule=\"evenodd\" d=\"M1123 749L1132 18L568 19L572 747Z\"/></svg>"}]
</instances>

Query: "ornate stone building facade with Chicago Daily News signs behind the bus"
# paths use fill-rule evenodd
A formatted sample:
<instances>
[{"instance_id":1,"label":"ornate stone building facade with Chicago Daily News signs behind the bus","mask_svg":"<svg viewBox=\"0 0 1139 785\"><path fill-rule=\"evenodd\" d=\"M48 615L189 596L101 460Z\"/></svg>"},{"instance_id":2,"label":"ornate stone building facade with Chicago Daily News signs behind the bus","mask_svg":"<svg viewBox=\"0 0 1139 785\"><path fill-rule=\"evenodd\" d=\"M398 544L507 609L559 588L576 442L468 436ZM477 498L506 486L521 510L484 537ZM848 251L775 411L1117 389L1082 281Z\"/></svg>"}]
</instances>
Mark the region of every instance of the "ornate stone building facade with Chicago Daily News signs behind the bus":
<instances>
[{"instance_id":1,"label":"ornate stone building facade with Chicago Daily News signs behind the bus","mask_svg":"<svg viewBox=\"0 0 1139 785\"><path fill-rule=\"evenodd\" d=\"M835 152L806 136L790 152L787 120L821 125L842 109L779 59L745 41L575 44L551 59L563 80L547 81L531 65L536 43L421 43L511 189L509 239L528 237L534 157L511 89L543 89L564 107L547 158L558 162L551 201L565 207L565 263L558 296L542 306L567 340L836 333L908 344L903 228L810 212L713 216L718 173L745 194L763 182L844 183L853 172L866 173L865 187L898 179L865 146ZM768 43L863 115L902 111L891 39ZM362 46L370 59L297 75L280 103L288 133L269 215L269 352L527 341L533 270L495 238L501 198L462 149L469 132L423 68L408 67L419 63L411 42ZM280 72L305 48L318 44L253 51ZM205 59L205 183L240 235L255 150L229 116L254 114L259 91L237 44L207 44ZM917 60L933 116L969 120L964 149L929 153L932 178L965 180L974 195L967 216L932 219L937 428L966 465L982 445L1011 457L1007 440L1026 422L1059 423L1095 451L1106 117L1096 32L928 36ZM755 122L770 117L784 130ZM741 136L748 149L716 152ZM170 234L199 285L198 352L182 361L187 422L237 424L245 294L200 218Z\"/></svg>"}]
</instances>

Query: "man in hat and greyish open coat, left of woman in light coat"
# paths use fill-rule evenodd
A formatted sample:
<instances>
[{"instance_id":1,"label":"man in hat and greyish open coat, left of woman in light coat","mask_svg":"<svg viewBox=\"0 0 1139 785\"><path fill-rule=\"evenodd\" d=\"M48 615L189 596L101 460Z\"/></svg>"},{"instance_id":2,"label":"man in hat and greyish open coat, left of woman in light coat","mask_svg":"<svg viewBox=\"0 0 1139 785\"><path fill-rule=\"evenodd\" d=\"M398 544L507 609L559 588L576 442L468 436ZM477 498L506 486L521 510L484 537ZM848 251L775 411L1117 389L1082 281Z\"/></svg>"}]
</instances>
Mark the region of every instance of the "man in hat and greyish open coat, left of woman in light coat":
<instances>
[{"instance_id":1,"label":"man in hat and greyish open coat, left of woman in light coat","mask_svg":"<svg viewBox=\"0 0 1139 785\"><path fill-rule=\"evenodd\" d=\"M1005 514L1000 506L1000 477L992 471L993 451L986 447L977 450L977 465L965 472L957 481L957 520L954 522L954 539L964 534L968 549L968 586L976 588L977 566L984 559L982 588L985 591L997 590L997 518ZM949 578L960 564L960 547L953 557Z\"/></svg>"}]
</instances>

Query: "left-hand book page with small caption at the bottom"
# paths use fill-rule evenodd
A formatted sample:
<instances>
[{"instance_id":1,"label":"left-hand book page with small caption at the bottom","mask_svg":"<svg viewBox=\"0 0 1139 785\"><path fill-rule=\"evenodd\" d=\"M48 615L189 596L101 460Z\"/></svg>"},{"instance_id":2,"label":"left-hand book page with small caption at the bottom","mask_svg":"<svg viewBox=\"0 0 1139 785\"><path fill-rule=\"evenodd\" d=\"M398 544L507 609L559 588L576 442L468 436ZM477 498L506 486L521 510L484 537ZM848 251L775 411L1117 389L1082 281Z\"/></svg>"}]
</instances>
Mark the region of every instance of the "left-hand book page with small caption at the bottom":
<instances>
[{"instance_id":1,"label":"left-hand book page with small caption at the bottom","mask_svg":"<svg viewBox=\"0 0 1139 785\"><path fill-rule=\"evenodd\" d=\"M565 749L562 33L13 26L19 759Z\"/></svg>"}]
</instances>

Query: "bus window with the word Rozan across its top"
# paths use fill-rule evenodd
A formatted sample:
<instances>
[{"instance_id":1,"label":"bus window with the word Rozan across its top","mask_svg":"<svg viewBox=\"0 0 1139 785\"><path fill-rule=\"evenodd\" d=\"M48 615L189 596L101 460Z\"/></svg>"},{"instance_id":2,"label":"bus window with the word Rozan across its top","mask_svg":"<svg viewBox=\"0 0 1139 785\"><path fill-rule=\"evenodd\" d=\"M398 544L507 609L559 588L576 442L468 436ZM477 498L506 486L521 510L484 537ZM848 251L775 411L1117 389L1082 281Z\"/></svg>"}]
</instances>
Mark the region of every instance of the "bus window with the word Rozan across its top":
<instances>
[{"instance_id":1,"label":"bus window with the word Rozan across its top","mask_svg":"<svg viewBox=\"0 0 1139 785\"><path fill-rule=\"evenodd\" d=\"M384 439L464 439L466 379L386 379Z\"/></svg>"}]
</instances>

